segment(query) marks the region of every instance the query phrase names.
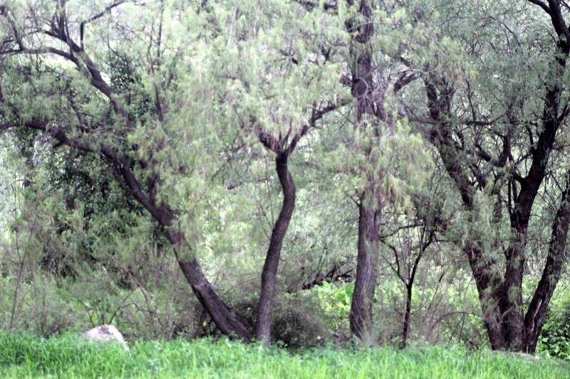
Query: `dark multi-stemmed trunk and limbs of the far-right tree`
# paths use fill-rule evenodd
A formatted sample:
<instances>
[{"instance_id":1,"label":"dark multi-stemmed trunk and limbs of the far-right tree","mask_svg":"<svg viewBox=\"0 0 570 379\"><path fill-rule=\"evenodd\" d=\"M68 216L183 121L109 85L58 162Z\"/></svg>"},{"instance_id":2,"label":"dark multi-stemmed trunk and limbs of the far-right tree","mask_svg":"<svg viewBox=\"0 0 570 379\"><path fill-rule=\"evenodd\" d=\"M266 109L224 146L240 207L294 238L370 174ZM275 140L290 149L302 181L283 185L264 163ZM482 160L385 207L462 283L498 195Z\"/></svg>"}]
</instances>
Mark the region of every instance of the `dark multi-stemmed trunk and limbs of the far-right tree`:
<instances>
[{"instance_id":1,"label":"dark multi-stemmed trunk and limbs of the far-right tree","mask_svg":"<svg viewBox=\"0 0 570 379\"><path fill-rule=\"evenodd\" d=\"M546 83L544 89L544 108L541 115L542 129L539 132L536 145L530 148L529 155L532 159L530 168L527 176L514 178L520 189L516 196L513 196L514 206L509 219L512 237L509 246L504 250L506 262L504 272L499 271L494 258L489 257L481 250L482 244L477 237L465 244L465 254L470 262L477 285L484 324L492 348L528 353L533 353L536 348L540 329L546 316L546 307L554 292L556 282L560 278L570 218L567 203L568 187L566 186L560 208L552 225L549 255L546 259L544 272L525 315L522 300L522 278L526 259L524 253L527 230L532 206L546 176L549 155L554 149L556 133L564 119L564 116L559 114L561 93L564 91L561 80L570 52L570 43L568 42L570 32L561 16L558 1L551 0L548 6L545 3L541 4L542 8L551 16L552 25L559 39L552 56L549 72L550 81ZM465 161L464 151L452 140L452 123L448 121L452 119L450 117L452 90L447 87L445 80L434 77L425 79L425 89L430 118L436 125L430 134L430 139L439 151L447 174L453 179L465 209L472 211L475 209L476 187L482 186L484 188L487 183L484 178L483 180L477 178L477 181L470 179L470 175L477 176L477 172L468 171L466 168L466 166L469 167L468 164L462 165L462 162ZM509 142L506 141L504 146L504 152L508 152ZM482 154L482 156L486 156L486 154ZM516 185L513 185L512 188L512 192L515 193ZM499 223L500 218L495 222Z\"/></svg>"}]
</instances>

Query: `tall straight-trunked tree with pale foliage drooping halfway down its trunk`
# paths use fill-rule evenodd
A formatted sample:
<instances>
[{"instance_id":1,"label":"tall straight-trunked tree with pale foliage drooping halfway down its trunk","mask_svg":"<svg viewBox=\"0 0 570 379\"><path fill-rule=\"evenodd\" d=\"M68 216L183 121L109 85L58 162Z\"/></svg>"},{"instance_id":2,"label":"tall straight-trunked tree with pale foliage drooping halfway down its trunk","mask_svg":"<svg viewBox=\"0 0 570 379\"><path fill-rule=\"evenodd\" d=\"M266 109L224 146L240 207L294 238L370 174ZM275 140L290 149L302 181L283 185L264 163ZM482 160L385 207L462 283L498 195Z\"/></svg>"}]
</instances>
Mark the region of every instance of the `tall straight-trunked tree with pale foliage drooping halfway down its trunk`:
<instances>
[{"instance_id":1,"label":"tall straight-trunked tree with pale foliage drooping halfway down its trunk","mask_svg":"<svg viewBox=\"0 0 570 379\"><path fill-rule=\"evenodd\" d=\"M407 26L402 25L405 8L397 2L348 4L353 12L347 28L356 136L350 149L363 160L361 171L353 173L360 187L356 190L358 257L350 321L353 334L366 341L373 336L383 207L386 201L394 205L409 201L412 188L423 181L430 159L418 135L408 127L398 101L399 92L418 78L396 53L408 40ZM383 23L377 27L380 17Z\"/></svg>"}]
</instances>

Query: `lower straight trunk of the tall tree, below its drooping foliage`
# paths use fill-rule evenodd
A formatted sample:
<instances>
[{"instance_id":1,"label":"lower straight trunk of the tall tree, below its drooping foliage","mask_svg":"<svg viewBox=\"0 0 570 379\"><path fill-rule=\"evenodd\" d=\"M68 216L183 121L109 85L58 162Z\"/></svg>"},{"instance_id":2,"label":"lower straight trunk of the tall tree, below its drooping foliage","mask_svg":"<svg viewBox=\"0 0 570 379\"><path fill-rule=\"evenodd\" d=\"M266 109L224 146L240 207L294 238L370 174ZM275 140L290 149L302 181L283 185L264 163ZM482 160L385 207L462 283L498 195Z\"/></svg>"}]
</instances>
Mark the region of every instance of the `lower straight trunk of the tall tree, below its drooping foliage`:
<instances>
[{"instance_id":1,"label":"lower straight trunk of the tall tree, below its drooping foliage","mask_svg":"<svg viewBox=\"0 0 570 379\"><path fill-rule=\"evenodd\" d=\"M372 305L378 279L378 249L380 247L380 215L382 197L361 196L358 207L358 257L356 282L351 303L351 331L362 341L373 335Z\"/></svg>"}]
</instances>

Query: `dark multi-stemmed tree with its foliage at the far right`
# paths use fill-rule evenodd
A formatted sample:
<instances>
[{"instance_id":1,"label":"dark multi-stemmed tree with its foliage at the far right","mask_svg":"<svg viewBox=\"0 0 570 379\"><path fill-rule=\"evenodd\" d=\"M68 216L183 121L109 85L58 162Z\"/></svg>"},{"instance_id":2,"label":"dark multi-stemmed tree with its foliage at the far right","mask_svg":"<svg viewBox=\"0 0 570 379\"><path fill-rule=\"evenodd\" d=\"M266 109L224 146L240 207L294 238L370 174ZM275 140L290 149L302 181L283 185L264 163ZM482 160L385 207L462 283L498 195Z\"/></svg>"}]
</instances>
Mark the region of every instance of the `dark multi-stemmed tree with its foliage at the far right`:
<instances>
[{"instance_id":1,"label":"dark multi-stemmed tree with its foliage at the far right","mask_svg":"<svg viewBox=\"0 0 570 379\"><path fill-rule=\"evenodd\" d=\"M472 228L460 245L470 262L477 284L489 341L494 349L527 352L534 352L536 348L546 307L560 278L568 232L568 188L565 185L552 225L544 272L525 314L522 284L528 254L525 248L532 239L528 233L529 223L544 179L559 172L559 169L551 166L551 156L557 149L561 125L568 116L567 105L561 96L569 54L569 45L566 43L568 28L561 4L556 0L549 1L549 4L531 2L539 5L540 11L546 11L554 29L554 44L541 50L541 53L549 55L550 60L546 77L539 72L522 74L532 78L527 80L527 85L537 83L534 75L544 80L541 111L534 110L535 106L539 107L534 99L526 98L528 92L524 91L525 84L520 82L521 77L518 76L521 74L502 71L499 75L491 74L485 78L491 82L497 78L513 89L513 92L503 92L504 98L492 104L480 93L481 87L472 85L471 78L465 78L465 86L458 85L457 77L452 78L448 75L449 71L445 71L449 66L442 67L447 63L442 62L439 53L430 63L415 65L423 73L425 85L428 114L425 124L429 126L427 138L434 144L447 174L455 183L467 211L467 223ZM497 11L501 11L501 5L497 4ZM465 11L470 12L470 8L467 7ZM490 11L482 9L482 23L494 19L487 13ZM514 17L524 15L528 18L531 12L517 6L514 12L517 16ZM454 31L457 30L457 25L453 27ZM490 50L486 51L476 48L477 41L474 41L472 46L466 46L465 53L478 59L485 57L485 54L493 57L491 59L504 59L506 55L527 59L522 42L527 31L510 28L507 24L499 27L509 31L503 40L498 38L497 43L504 45L492 44ZM443 43L441 38L437 41ZM509 43L517 43L517 48L510 48ZM483 58L485 64L489 64L489 60ZM479 73L486 70L480 66L477 69ZM499 82L489 87L504 91ZM485 128L489 133L483 132ZM490 149L494 152L489 152ZM551 174L549 166L553 170ZM494 230L488 232L475 227L480 222L477 213L480 213L482 198L486 198L489 207L492 207L489 223ZM503 223L505 215L507 229ZM502 233L509 236L504 238Z\"/></svg>"}]
</instances>

